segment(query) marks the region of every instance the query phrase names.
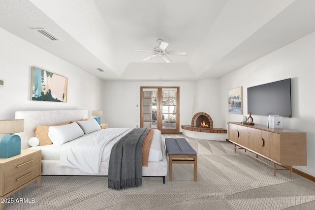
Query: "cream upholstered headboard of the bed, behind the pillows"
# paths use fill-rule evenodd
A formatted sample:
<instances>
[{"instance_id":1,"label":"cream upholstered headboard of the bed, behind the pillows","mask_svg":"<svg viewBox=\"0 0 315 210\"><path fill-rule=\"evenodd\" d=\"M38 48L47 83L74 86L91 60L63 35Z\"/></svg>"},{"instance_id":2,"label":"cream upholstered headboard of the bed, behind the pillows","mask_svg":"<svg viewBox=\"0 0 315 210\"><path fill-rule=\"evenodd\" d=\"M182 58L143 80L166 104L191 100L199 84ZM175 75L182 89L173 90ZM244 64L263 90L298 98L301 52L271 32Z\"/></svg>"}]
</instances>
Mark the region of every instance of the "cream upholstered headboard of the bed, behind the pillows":
<instances>
[{"instance_id":1,"label":"cream upholstered headboard of the bed, behind the pillows","mask_svg":"<svg viewBox=\"0 0 315 210\"><path fill-rule=\"evenodd\" d=\"M21 137L21 149L29 148L29 139L35 136L37 125L54 125L63 122L88 118L88 110L40 110L16 111L15 119L24 119L24 132L16 133Z\"/></svg>"}]
</instances>

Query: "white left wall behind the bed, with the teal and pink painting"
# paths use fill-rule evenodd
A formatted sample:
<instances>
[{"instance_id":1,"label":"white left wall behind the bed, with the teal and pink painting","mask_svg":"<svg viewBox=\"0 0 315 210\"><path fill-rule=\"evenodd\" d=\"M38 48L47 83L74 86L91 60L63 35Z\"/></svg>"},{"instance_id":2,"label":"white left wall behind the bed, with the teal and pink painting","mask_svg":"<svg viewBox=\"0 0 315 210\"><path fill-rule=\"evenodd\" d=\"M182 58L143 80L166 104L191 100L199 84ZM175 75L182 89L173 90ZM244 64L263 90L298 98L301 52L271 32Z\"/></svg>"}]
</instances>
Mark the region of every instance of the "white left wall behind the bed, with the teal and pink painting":
<instances>
[{"instance_id":1,"label":"white left wall behind the bed, with the teal and pink painting","mask_svg":"<svg viewBox=\"0 0 315 210\"><path fill-rule=\"evenodd\" d=\"M1 120L14 119L15 111L49 109L88 109L92 118L91 110L103 107L102 80L1 28L0 37ZM32 66L68 78L66 103L30 100Z\"/></svg>"}]
</instances>

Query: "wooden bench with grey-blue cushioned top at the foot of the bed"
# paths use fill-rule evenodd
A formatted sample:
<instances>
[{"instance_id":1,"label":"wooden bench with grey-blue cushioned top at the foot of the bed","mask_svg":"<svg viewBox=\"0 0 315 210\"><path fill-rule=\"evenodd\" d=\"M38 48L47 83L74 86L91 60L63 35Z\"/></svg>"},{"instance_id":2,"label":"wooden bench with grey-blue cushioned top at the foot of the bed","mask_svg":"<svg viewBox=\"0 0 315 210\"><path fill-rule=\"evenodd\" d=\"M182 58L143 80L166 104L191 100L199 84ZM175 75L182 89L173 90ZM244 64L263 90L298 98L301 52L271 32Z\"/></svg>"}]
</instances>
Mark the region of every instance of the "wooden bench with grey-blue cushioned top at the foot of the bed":
<instances>
[{"instance_id":1,"label":"wooden bench with grey-blue cushioned top at the foot of the bed","mask_svg":"<svg viewBox=\"0 0 315 210\"><path fill-rule=\"evenodd\" d=\"M165 146L166 155L168 154L169 157L169 180L172 180L173 163L191 163L193 164L193 178L197 181L197 152L192 149L186 139L166 138Z\"/></svg>"}]
</instances>

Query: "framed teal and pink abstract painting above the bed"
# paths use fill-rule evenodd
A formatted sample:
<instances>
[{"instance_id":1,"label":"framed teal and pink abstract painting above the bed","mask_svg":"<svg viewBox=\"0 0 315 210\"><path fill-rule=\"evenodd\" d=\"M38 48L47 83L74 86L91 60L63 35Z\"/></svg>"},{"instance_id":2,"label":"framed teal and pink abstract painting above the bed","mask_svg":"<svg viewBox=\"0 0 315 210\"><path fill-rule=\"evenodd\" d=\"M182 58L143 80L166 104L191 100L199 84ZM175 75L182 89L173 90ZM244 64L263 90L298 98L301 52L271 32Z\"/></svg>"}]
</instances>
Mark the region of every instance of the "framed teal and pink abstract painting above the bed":
<instances>
[{"instance_id":1,"label":"framed teal and pink abstract painting above the bed","mask_svg":"<svg viewBox=\"0 0 315 210\"><path fill-rule=\"evenodd\" d=\"M67 102L68 79L32 67L31 100Z\"/></svg>"}]
</instances>

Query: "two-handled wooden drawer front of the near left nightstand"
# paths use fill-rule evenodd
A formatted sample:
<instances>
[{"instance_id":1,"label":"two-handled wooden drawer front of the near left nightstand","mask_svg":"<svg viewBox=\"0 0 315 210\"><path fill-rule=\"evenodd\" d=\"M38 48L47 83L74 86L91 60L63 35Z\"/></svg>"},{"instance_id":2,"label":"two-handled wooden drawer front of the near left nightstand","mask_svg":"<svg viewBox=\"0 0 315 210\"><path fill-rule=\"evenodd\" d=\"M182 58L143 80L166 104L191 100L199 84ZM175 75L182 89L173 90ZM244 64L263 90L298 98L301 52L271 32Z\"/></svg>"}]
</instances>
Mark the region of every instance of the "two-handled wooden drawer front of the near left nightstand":
<instances>
[{"instance_id":1,"label":"two-handled wooden drawer front of the near left nightstand","mask_svg":"<svg viewBox=\"0 0 315 210\"><path fill-rule=\"evenodd\" d=\"M4 194L40 175L41 154L33 152L5 164Z\"/></svg>"}]
</instances>

